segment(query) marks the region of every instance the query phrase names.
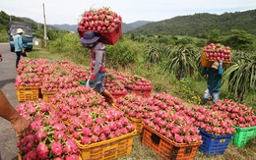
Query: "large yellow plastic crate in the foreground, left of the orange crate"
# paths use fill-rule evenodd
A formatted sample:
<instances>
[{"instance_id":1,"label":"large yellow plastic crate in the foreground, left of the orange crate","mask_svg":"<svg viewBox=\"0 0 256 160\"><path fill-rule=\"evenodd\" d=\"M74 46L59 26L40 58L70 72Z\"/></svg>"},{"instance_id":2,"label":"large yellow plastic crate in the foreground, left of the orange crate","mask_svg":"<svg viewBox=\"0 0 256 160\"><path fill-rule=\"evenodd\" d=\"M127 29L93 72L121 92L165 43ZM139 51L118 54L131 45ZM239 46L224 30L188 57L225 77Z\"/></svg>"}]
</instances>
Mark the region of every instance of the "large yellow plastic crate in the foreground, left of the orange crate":
<instances>
[{"instance_id":1,"label":"large yellow plastic crate in the foreground, left of the orange crate","mask_svg":"<svg viewBox=\"0 0 256 160\"><path fill-rule=\"evenodd\" d=\"M112 160L132 151L134 135L136 132L126 133L89 145L83 145L78 141L77 144L81 149L82 160Z\"/></svg>"}]
</instances>

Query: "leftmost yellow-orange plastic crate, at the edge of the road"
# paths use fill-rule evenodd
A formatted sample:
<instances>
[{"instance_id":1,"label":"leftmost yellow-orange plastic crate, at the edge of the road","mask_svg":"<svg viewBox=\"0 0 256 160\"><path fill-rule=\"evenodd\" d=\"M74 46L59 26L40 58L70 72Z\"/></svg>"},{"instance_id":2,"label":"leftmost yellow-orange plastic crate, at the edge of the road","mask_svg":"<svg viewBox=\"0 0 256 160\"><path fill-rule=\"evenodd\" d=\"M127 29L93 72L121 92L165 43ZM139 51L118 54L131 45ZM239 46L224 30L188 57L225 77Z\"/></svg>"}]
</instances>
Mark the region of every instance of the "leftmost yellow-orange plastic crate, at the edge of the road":
<instances>
[{"instance_id":1,"label":"leftmost yellow-orange plastic crate, at the edge of the road","mask_svg":"<svg viewBox=\"0 0 256 160\"><path fill-rule=\"evenodd\" d=\"M27 100L38 100L39 98L38 86L17 87L16 91L19 102L24 102Z\"/></svg>"}]
</instances>

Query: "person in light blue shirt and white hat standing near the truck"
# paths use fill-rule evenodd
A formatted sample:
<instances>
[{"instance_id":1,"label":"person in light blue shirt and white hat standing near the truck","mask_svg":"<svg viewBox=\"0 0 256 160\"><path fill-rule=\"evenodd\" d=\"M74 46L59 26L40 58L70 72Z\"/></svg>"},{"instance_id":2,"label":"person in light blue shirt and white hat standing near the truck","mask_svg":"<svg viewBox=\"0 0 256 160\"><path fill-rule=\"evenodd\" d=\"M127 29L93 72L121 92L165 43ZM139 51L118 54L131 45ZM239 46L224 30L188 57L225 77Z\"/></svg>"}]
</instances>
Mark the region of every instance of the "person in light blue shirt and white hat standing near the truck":
<instances>
[{"instance_id":1,"label":"person in light blue shirt and white hat standing near the truck","mask_svg":"<svg viewBox=\"0 0 256 160\"><path fill-rule=\"evenodd\" d=\"M23 34L24 30L22 28L18 28L16 31L16 35L14 36L14 47L15 47L15 53L17 55L16 58L16 68L18 68L19 62L21 60L21 56L27 57L27 54L25 52L25 48L23 46Z\"/></svg>"}]
</instances>

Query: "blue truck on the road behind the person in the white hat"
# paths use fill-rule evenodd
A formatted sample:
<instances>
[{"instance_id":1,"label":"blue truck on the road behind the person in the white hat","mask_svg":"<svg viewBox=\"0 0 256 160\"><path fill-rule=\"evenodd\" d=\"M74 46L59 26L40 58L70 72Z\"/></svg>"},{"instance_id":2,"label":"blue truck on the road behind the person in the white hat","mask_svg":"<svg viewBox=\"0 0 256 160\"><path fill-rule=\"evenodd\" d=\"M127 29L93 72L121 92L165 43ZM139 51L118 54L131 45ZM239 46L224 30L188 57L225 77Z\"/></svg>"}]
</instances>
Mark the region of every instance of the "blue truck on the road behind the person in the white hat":
<instances>
[{"instance_id":1,"label":"blue truck on the road behind the person in the white hat","mask_svg":"<svg viewBox=\"0 0 256 160\"><path fill-rule=\"evenodd\" d=\"M22 28L24 33L23 37L23 45L26 48L26 51L32 51L32 25L20 23L20 22L10 22L8 33L10 35L10 50L14 52L14 38L16 35L17 28Z\"/></svg>"}]
</instances>

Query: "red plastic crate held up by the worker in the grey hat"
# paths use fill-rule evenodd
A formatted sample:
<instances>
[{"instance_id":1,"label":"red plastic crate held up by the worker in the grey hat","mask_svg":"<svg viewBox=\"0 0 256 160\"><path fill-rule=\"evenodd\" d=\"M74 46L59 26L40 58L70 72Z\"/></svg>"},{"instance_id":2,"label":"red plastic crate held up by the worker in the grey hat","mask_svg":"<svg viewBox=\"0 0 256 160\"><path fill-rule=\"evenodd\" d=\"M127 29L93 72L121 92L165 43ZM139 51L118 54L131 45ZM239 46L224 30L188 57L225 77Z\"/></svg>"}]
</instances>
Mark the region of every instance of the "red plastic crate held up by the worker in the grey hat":
<instances>
[{"instance_id":1,"label":"red plastic crate held up by the worker in the grey hat","mask_svg":"<svg viewBox=\"0 0 256 160\"><path fill-rule=\"evenodd\" d=\"M79 37L83 37L86 31L94 31L94 30L79 30ZM122 24L118 25L117 27L113 28L109 32L100 32L94 31L97 36L99 36L99 41L104 44L114 45L119 37L122 36Z\"/></svg>"}]
</instances>

